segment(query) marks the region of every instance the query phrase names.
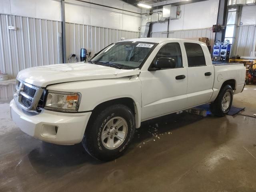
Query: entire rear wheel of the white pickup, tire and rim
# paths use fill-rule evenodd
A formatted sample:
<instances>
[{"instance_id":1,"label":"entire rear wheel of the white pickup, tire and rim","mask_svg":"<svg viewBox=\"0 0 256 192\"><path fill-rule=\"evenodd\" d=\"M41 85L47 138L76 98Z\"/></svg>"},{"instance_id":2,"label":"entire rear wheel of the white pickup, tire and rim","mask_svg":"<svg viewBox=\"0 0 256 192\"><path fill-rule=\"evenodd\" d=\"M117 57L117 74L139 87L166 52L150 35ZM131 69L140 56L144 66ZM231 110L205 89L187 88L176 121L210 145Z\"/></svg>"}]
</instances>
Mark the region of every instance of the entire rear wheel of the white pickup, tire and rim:
<instances>
[{"instance_id":1,"label":"entire rear wheel of the white pickup, tire and rim","mask_svg":"<svg viewBox=\"0 0 256 192\"><path fill-rule=\"evenodd\" d=\"M224 86L217 98L210 104L210 110L215 116L225 116L232 107L233 89L230 85Z\"/></svg>"}]
</instances>

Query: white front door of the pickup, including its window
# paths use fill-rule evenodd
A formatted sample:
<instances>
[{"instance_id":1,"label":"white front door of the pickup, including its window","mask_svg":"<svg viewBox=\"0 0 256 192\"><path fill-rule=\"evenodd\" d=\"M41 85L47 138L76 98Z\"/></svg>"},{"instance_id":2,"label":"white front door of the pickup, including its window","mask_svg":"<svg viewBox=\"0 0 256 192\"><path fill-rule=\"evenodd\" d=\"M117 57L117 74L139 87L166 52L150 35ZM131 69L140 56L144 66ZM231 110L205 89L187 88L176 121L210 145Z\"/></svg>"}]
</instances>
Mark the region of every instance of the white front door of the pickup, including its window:
<instances>
[{"instance_id":1,"label":"white front door of the pickup, including its window","mask_svg":"<svg viewBox=\"0 0 256 192\"><path fill-rule=\"evenodd\" d=\"M150 68L156 67L158 58L172 58L173 68L142 71L142 120L181 110L187 102L187 68L183 62L180 42L168 43L160 48Z\"/></svg>"}]
</instances>

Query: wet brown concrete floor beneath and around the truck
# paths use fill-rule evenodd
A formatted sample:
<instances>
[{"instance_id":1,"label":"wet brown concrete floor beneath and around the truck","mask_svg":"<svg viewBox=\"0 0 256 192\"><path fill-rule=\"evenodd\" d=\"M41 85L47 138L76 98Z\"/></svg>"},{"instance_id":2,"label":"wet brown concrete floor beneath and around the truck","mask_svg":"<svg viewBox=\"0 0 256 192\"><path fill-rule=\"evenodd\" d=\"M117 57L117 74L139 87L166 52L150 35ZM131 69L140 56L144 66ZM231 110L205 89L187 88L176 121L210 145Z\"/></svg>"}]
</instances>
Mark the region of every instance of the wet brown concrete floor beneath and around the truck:
<instances>
[{"instance_id":1,"label":"wet brown concrete floor beneath and around the truck","mask_svg":"<svg viewBox=\"0 0 256 192\"><path fill-rule=\"evenodd\" d=\"M126 154L105 163L80 144L48 144L20 131L6 86L13 85L0 86L0 192L256 191L256 118L183 112L144 122ZM234 105L253 116L255 96L256 86L246 86Z\"/></svg>"}]
</instances>

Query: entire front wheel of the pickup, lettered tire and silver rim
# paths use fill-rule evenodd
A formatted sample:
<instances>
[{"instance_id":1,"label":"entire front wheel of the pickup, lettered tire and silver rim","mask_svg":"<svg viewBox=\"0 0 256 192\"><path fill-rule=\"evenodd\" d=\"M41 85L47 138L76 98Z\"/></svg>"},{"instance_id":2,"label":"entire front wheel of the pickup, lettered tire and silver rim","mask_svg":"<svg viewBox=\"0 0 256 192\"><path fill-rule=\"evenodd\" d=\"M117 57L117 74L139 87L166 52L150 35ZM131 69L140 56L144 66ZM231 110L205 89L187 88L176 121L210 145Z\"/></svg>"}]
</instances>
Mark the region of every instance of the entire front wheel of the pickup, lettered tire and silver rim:
<instances>
[{"instance_id":1,"label":"entire front wheel of the pickup, lettered tire and silver rim","mask_svg":"<svg viewBox=\"0 0 256 192\"><path fill-rule=\"evenodd\" d=\"M134 114L116 104L104 109L86 127L82 144L94 158L109 161L121 156L134 134Z\"/></svg>"}]
</instances>

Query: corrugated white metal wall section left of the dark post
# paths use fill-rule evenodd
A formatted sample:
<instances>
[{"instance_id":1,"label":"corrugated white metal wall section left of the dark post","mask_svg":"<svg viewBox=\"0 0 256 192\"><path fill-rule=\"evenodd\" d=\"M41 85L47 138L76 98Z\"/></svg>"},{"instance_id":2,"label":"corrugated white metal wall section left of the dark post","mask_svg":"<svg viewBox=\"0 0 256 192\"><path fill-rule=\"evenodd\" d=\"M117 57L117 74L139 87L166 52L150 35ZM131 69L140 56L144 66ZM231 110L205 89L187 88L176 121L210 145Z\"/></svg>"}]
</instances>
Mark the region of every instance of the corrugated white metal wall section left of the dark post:
<instances>
[{"instance_id":1,"label":"corrugated white metal wall section left of the dark post","mask_svg":"<svg viewBox=\"0 0 256 192\"><path fill-rule=\"evenodd\" d=\"M22 69L59 63L61 22L0 14L0 70L15 78Z\"/></svg>"}]
</instances>

